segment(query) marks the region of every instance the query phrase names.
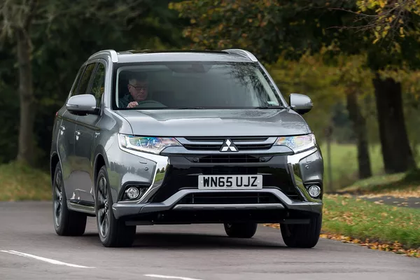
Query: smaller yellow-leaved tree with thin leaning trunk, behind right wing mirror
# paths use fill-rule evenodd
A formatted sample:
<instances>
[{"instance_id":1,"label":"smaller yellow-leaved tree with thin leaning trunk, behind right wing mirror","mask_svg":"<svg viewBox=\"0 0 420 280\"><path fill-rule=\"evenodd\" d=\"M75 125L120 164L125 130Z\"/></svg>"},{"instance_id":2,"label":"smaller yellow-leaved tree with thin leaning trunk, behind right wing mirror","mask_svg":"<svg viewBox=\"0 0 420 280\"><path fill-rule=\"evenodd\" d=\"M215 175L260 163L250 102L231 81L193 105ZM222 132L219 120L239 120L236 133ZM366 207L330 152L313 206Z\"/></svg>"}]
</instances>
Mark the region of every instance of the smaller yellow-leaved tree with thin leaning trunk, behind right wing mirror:
<instances>
[{"instance_id":1,"label":"smaller yellow-leaved tree with thin leaning trunk, behind right wing mirror","mask_svg":"<svg viewBox=\"0 0 420 280\"><path fill-rule=\"evenodd\" d=\"M372 176L366 120L359 99L373 93L370 79L372 73L363 67L365 55L338 55L335 61L325 63L323 52L317 55L303 55L297 62L279 59L267 67L274 81L283 92L309 92L316 106L307 118L318 141L323 141L323 130L334 118L337 102L345 102L353 126L357 146L358 176L364 179ZM345 110L345 109L344 109ZM316 116L316 118L312 117ZM342 127L335 127L335 130ZM349 137L349 135L346 135ZM351 141L353 138L351 139Z\"/></svg>"}]
</instances>

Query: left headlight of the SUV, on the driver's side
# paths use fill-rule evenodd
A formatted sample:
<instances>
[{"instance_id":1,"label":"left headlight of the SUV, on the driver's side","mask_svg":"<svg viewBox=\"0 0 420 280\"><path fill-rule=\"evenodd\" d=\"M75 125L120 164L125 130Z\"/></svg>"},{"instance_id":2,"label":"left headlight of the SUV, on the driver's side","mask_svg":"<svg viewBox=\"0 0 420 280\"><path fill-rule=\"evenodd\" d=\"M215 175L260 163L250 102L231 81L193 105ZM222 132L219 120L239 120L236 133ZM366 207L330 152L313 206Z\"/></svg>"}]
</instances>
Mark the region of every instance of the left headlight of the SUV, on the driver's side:
<instances>
[{"instance_id":1,"label":"left headlight of the SUV, on the driver's side","mask_svg":"<svg viewBox=\"0 0 420 280\"><path fill-rule=\"evenodd\" d=\"M162 137L137 137L127 134L119 134L120 145L131 150L159 155L169 146L181 146L174 138Z\"/></svg>"}]
</instances>

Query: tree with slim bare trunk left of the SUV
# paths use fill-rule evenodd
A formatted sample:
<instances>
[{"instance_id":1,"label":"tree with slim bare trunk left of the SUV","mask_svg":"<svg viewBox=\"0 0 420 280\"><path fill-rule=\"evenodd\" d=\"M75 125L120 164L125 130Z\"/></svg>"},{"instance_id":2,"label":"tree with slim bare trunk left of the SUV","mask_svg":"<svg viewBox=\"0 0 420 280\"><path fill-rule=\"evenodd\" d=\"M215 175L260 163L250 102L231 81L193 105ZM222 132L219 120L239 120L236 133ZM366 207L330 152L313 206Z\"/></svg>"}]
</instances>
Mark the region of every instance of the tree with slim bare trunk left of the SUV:
<instances>
[{"instance_id":1,"label":"tree with slim bare trunk left of the SUV","mask_svg":"<svg viewBox=\"0 0 420 280\"><path fill-rule=\"evenodd\" d=\"M66 29L66 31L71 29L71 25L80 27L80 22L87 19L92 20L97 27L107 21L108 27L112 23L117 32L111 32L106 36L115 36L116 34L118 36L121 31L127 30L131 24L135 24L139 15L142 15L144 10L150 6L151 0L4 0L0 2L1 43L3 45L11 44L13 49L15 48L18 61L20 125L17 160L19 162L34 164L36 98L33 67L34 59L37 59L42 50L45 50L45 45L48 45L42 41L38 44L38 38L45 38L45 36L57 33L57 27ZM113 19L112 22L109 21L110 17ZM82 28L85 29L85 27ZM99 29L97 30L99 34ZM78 33L76 33L77 36ZM59 44L59 51L66 48L63 41L60 41ZM92 48L89 49L92 50Z\"/></svg>"}]
</instances>

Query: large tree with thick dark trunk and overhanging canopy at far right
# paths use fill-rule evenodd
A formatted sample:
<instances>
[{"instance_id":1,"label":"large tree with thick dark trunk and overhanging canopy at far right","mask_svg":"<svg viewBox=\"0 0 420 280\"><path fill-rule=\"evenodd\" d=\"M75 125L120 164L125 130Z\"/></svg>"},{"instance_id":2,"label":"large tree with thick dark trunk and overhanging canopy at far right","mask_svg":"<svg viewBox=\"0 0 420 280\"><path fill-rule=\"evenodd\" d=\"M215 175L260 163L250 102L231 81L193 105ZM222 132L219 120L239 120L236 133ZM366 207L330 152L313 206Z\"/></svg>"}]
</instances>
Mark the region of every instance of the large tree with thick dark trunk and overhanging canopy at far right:
<instances>
[{"instance_id":1,"label":"large tree with thick dark trunk and overhanging canopy at far right","mask_svg":"<svg viewBox=\"0 0 420 280\"><path fill-rule=\"evenodd\" d=\"M284 55L297 59L310 50L329 48L330 55L367 54L367 66L374 73L372 83L377 101L379 134L387 173L404 172L415 167L403 115L401 87L384 71L398 69L403 63L419 67L416 55L419 41L419 20L415 13L402 10L410 23L405 36L375 41L368 15L377 10L356 0L220 0L182 1L170 8L190 19L184 35L193 41L193 48L246 48L267 64ZM381 2L375 1L381 6ZM397 5L398 1L390 1ZM358 5L359 6L358 6ZM374 6L373 6L374 7ZM385 7L385 6L384 6ZM377 19L380 17L377 16ZM400 22L397 20L397 22ZM385 27L384 27L385 28ZM371 31L370 33L360 30ZM376 29L374 29L376 30Z\"/></svg>"}]
</instances>

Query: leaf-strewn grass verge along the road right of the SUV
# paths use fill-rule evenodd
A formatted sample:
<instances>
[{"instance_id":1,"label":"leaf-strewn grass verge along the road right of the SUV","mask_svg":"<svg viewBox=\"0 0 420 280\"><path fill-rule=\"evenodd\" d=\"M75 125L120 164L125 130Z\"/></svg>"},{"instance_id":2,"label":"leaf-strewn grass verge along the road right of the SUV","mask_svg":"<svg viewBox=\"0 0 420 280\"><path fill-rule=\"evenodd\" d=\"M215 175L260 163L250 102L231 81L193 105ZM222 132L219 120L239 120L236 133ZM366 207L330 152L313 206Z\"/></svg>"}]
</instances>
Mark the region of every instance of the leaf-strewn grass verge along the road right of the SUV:
<instances>
[{"instance_id":1,"label":"leaf-strewn grass verge along the road right of the SUV","mask_svg":"<svg viewBox=\"0 0 420 280\"><path fill-rule=\"evenodd\" d=\"M321 237L420 258L420 211L325 195ZM279 228L276 224L267 224Z\"/></svg>"}]
</instances>

